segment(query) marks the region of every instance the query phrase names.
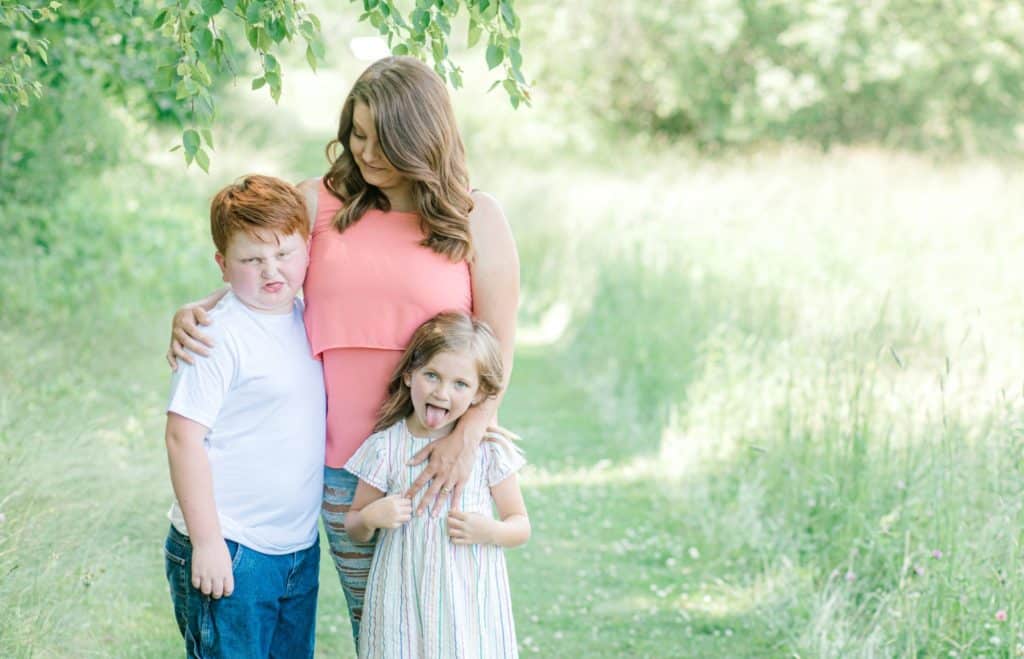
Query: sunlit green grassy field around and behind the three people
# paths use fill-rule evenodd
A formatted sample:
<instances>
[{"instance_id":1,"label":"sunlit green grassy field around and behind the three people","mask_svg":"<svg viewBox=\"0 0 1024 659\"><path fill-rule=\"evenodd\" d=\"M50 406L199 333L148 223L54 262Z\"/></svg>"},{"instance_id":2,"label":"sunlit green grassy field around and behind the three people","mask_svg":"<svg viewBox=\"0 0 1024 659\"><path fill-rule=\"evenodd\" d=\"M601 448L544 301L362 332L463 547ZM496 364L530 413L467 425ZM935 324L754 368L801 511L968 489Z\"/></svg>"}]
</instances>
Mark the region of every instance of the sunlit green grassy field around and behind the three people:
<instances>
[{"instance_id":1,"label":"sunlit green grassy field around and behind the three people","mask_svg":"<svg viewBox=\"0 0 1024 659\"><path fill-rule=\"evenodd\" d=\"M1021 175L871 149L505 157L464 125L523 264L503 410L531 462L523 654L1024 654ZM260 130L210 177L152 159L0 237L0 656L180 655L168 316L217 282L215 187L319 169L313 129L300 157L232 156ZM325 561L318 655L351 654L343 611Z\"/></svg>"}]
</instances>

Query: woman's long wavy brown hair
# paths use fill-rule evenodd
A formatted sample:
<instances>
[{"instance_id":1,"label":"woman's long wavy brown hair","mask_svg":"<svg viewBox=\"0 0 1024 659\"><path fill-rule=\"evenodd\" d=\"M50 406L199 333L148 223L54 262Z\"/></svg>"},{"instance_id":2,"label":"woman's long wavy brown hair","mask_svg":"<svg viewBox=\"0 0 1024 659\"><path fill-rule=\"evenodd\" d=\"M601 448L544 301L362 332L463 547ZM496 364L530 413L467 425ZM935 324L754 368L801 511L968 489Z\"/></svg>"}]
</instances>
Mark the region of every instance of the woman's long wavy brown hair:
<instances>
[{"instance_id":1,"label":"woman's long wavy brown hair","mask_svg":"<svg viewBox=\"0 0 1024 659\"><path fill-rule=\"evenodd\" d=\"M352 114L366 103L388 162L413 183L422 245L453 261L473 256L473 210L465 150L444 83L415 57L385 57L371 64L341 108L338 136L327 145L331 169L324 184L344 206L334 226L344 231L372 208L390 210L387 196L367 183L349 150Z\"/></svg>"}]
</instances>

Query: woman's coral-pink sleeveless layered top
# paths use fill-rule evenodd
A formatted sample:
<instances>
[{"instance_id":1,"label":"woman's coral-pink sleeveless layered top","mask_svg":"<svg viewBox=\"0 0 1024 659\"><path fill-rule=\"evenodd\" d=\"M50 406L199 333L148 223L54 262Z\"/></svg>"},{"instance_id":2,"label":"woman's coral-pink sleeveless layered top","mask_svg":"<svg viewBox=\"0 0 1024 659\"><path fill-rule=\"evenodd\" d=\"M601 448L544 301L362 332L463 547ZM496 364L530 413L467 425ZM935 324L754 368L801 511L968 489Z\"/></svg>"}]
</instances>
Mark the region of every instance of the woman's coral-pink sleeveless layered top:
<instances>
[{"instance_id":1,"label":"woman's coral-pink sleeveless layered top","mask_svg":"<svg viewBox=\"0 0 1024 659\"><path fill-rule=\"evenodd\" d=\"M309 344L317 356L335 349L399 351L390 359L374 362L390 371L424 321L441 311L472 312L469 264L453 262L420 245L424 236L416 213L374 209L339 232L332 220L340 208L341 202L321 181L303 285ZM365 414L356 414L358 420L346 414L347 403L361 404L368 395L382 401L386 392L352 391L351 383L383 382L390 372L366 374L365 379L357 377L362 374L339 378L334 368L326 366L327 362L329 440L358 437L361 442L370 435L373 421L361 419ZM332 378L338 382L333 383ZM346 384L338 386L341 382ZM337 428L339 424L359 428ZM341 458L341 453L332 458L335 452L349 453L357 448L357 444L342 448L328 443L328 464L332 466Z\"/></svg>"}]
</instances>

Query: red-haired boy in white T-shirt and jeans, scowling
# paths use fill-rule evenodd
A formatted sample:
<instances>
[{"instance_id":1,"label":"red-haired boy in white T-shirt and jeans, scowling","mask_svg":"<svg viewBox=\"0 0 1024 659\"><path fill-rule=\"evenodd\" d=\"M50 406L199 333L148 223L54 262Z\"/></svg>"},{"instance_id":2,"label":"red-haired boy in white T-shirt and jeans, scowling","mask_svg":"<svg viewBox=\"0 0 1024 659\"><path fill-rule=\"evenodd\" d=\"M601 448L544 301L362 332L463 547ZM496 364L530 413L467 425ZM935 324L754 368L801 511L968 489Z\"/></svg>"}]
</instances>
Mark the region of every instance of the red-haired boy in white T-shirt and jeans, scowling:
<instances>
[{"instance_id":1,"label":"red-haired boy in white T-shirt and jeans, scowling","mask_svg":"<svg viewBox=\"0 0 1024 659\"><path fill-rule=\"evenodd\" d=\"M295 298L306 208L247 176L214 197L210 228L231 290L215 348L180 364L167 406L174 615L188 657L312 657L326 401Z\"/></svg>"}]
</instances>

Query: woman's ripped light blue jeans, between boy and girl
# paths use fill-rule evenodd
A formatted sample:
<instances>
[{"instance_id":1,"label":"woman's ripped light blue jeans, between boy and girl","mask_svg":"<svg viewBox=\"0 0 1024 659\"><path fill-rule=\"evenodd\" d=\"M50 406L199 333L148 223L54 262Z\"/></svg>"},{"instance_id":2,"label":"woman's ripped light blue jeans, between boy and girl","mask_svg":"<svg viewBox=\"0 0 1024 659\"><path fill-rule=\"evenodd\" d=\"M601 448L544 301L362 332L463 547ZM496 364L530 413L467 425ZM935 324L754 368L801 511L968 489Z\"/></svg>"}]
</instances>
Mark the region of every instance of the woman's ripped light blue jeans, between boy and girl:
<instances>
[{"instance_id":1,"label":"woman's ripped light blue jeans, between boy and girl","mask_svg":"<svg viewBox=\"0 0 1024 659\"><path fill-rule=\"evenodd\" d=\"M331 545L331 559L341 579L341 589L348 605L348 620L352 623L352 641L359 647L359 620L362 618L362 598L367 594L370 562L374 558L377 536L369 542L353 542L345 532L345 514L355 496L358 477L345 469L324 468L324 530Z\"/></svg>"}]
</instances>

